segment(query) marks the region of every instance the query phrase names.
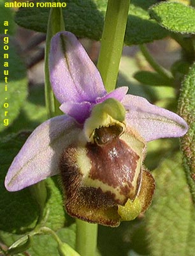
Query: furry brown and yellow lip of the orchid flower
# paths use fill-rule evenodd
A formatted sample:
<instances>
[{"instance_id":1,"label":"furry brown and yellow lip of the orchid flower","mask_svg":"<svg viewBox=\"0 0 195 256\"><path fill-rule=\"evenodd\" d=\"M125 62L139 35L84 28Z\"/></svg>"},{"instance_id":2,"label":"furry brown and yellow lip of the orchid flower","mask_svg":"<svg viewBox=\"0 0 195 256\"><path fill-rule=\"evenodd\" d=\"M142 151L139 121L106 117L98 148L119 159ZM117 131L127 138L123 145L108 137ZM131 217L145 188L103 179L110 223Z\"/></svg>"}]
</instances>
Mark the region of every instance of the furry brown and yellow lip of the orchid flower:
<instances>
[{"instance_id":1,"label":"furry brown and yellow lip of the orchid flower","mask_svg":"<svg viewBox=\"0 0 195 256\"><path fill-rule=\"evenodd\" d=\"M122 133L118 125L96 129L93 143L64 150L60 168L68 214L117 227L121 220L133 220L145 211L154 180L142 169L144 152L143 139L129 129Z\"/></svg>"}]
</instances>

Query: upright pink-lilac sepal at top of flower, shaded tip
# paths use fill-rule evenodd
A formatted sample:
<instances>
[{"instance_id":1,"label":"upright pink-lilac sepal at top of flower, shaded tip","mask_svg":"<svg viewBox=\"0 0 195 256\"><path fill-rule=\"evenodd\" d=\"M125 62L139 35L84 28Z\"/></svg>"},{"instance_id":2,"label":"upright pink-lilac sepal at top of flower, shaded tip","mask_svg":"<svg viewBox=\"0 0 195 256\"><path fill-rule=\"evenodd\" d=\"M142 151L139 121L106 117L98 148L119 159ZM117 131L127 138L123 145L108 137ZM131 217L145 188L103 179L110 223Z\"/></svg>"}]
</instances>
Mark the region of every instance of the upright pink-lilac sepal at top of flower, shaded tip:
<instances>
[{"instance_id":1,"label":"upright pink-lilac sepal at top of flower, shaded tip","mask_svg":"<svg viewBox=\"0 0 195 256\"><path fill-rule=\"evenodd\" d=\"M59 102L93 102L106 94L98 69L72 33L59 32L52 38L49 64Z\"/></svg>"}]
</instances>

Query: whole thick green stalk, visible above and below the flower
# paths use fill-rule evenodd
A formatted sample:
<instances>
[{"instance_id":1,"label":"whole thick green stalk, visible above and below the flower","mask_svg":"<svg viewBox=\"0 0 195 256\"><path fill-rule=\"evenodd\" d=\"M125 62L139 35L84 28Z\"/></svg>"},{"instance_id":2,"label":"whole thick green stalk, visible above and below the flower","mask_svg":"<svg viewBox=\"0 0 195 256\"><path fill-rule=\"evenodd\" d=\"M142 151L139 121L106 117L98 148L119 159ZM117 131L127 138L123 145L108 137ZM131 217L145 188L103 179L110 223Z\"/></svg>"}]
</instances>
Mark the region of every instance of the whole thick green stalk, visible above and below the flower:
<instances>
[{"instance_id":1,"label":"whole thick green stalk, visible above and below the flower","mask_svg":"<svg viewBox=\"0 0 195 256\"><path fill-rule=\"evenodd\" d=\"M130 0L109 0L101 40L98 69L108 92L115 89L124 44ZM98 225L76 220L76 250L96 255Z\"/></svg>"}]
</instances>

